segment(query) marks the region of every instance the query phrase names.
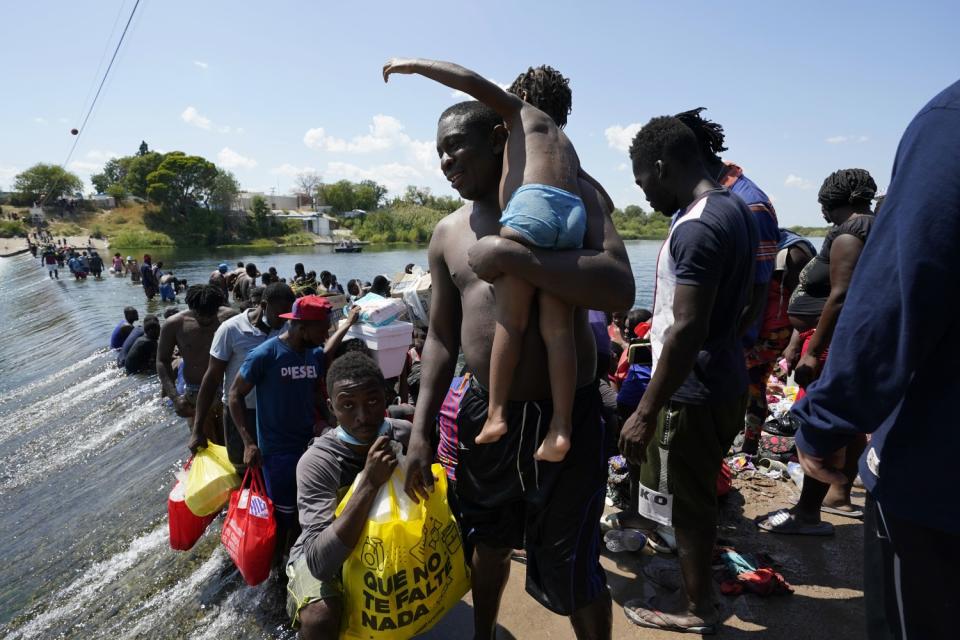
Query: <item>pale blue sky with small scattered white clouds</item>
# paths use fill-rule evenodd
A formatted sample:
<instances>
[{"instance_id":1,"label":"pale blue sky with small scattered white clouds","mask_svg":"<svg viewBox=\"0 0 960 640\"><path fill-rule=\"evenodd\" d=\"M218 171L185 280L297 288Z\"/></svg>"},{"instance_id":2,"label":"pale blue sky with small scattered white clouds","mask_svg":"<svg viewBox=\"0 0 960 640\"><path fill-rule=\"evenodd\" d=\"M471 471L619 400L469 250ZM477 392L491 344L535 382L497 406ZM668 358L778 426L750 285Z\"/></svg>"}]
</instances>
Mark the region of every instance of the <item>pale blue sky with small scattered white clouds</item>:
<instances>
[{"instance_id":1,"label":"pale blue sky with small scattered white clouds","mask_svg":"<svg viewBox=\"0 0 960 640\"><path fill-rule=\"evenodd\" d=\"M0 188L35 162L63 162L133 2L5 3ZM631 132L697 106L725 126L725 156L785 225L822 224L816 189L835 169L864 167L885 187L910 118L957 79L960 5L728 4L141 0L69 168L86 179L143 139L207 157L250 190L285 193L313 170L452 194L433 140L458 98L380 77L388 57L423 56L500 83L530 65L560 69L573 89L567 133L620 206L646 205Z\"/></svg>"}]
</instances>

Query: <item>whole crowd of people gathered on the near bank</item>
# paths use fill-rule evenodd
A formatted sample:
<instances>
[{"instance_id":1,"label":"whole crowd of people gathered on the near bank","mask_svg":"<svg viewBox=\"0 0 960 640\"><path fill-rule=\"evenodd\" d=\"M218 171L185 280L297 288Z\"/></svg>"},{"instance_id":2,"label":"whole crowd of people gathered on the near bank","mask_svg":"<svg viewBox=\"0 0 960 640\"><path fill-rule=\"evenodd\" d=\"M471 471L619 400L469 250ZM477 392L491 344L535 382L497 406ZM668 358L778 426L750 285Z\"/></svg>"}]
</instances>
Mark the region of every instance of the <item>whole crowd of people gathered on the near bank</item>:
<instances>
[{"instance_id":1,"label":"whole crowd of people gathered on the near bank","mask_svg":"<svg viewBox=\"0 0 960 640\"><path fill-rule=\"evenodd\" d=\"M829 536L821 512L862 518L869 637L951 637L960 513L922 498L916 470L948 482L960 444L937 426L949 421L957 347L955 320L934 306L955 281L960 84L907 129L882 207L866 170L824 178L816 204L831 227L819 249L780 228L770 198L721 155L723 127L703 109L651 119L629 159L672 223L652 309L631 309L612 203L563 133L567 79L531 68L504 91L451 63L384 67L385 80L399 73L476 98L439 118L440 168L468 203L434 230L429 327L399 379L344 340L359 321L350 303L389 296L389 280L344 288L302 264L289 280L220 264L186 288L186 310L136 327L128 308L111 337L128 372L157 371L191 451L225 444L238 469L263 471L281 540L275 578L301 636L338 633L340 567L397 465L391 441L412 499L433 490L433 462L446 470L476 637L494 637L511 558L522 557L537 602L569 616L578 638L609 638L602 527L677 556L679 588L627 602L631 622L714 633L718 480L725 458L759 462L774 434L788 442L778 459L799 461L805 477L799 502L757 527ZM148 300L172 279L161 267L149 255L122 265ZM791 375L797 402L771 419L768 391ZM604 517L618 456L625 508ZM862 509L851 500L858 475Z\"/></svg>"}]
</instances>

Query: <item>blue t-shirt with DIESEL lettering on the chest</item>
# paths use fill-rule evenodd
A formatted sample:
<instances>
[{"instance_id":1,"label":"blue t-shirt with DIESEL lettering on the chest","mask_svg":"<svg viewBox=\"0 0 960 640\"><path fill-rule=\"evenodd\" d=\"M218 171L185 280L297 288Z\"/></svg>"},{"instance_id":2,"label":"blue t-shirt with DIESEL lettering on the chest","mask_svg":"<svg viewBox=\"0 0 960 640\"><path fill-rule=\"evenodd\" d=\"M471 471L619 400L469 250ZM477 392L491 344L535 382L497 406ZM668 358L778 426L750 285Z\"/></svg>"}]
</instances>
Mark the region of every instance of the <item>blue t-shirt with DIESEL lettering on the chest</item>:
<instances>
[{"instance_id":1,"label":"blue t-shirt with DIESEL lettering on the chest","mask_svg":"<svg viewBox=\"0 0 960 640\"><path fill-rule=\"evenodd\" d=\"M257 446L264 455L302 453L313 438L323 349L297 353L280 337L247 355L238 375L257 387Z\"/></svg>"}]
</instances>

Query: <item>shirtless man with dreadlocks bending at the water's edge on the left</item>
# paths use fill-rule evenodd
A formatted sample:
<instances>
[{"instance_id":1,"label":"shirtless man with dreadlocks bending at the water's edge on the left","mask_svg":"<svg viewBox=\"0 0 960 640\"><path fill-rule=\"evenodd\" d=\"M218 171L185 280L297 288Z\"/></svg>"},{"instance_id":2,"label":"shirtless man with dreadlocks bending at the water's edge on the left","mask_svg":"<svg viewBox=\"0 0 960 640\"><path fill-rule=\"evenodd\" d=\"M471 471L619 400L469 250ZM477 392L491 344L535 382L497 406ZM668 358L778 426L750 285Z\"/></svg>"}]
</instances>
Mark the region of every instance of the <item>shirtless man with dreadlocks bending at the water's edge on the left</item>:
<instances>
[{"instance_id":1,"label":"shirtless man with dreadlocks bending at the water's edge on the left","mask_svg":"<svg viewBox=\"0 0 960 640\"><path fill-rule=\"evenodd\" d=\"M187 418L187 427L196 411L197 394L203 374L207 371L210 359L210 345L220 323L237 315L237 311L225 306L223 289L211 284L196 284L187 289L187 310L167 320L160 330L160 343L157 346L157 375L163 393L173 399L173 407L178 416ZM173 350L180 350L180 367L186 389L183 395L177 393L177 376L173 373ZM208 440L223 444L223 405L207 414L202 433Z\"/></svg>"}]
</instances>

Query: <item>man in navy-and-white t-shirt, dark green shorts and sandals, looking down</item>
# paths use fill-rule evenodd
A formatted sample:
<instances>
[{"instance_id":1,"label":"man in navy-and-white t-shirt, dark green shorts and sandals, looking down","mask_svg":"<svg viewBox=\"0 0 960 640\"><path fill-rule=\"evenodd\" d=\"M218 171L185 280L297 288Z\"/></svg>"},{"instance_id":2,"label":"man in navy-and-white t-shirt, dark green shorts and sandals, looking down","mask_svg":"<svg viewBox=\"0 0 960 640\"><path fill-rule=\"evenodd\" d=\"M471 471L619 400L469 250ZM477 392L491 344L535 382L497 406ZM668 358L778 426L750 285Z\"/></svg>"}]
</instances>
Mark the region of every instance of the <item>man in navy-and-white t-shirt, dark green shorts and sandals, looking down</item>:
<instances>
[{"instance_id":1,"label":"man in navy-and-white t-shirt, dark green shorts and sandals, looking down","mask_svg":"<svg viewBox=\"0 0 960 640\"><path fill-rule=\"evenodd\" d=\"M643 627L713 633L716 478L746 408L739 326L753 287L756 223L706 170L694 133L677 118L647 123L630 158L650 205L677 213L657 261L653 376L620 449L641 465L640 514L676 530L683 585L672 602L628 602L624 612Z\"/></svg>"}]
</instances>

